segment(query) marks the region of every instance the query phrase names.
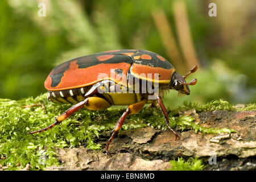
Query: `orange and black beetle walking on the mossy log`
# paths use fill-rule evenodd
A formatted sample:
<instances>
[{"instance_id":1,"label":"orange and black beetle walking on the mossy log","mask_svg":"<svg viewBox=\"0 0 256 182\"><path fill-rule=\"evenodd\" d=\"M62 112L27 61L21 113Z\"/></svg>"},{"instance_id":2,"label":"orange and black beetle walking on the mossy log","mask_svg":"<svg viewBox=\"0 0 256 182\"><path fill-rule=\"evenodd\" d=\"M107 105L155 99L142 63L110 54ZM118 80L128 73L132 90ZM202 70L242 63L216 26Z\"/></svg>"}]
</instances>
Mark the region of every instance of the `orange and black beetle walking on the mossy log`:
<instances>
[{"instance_id":1,"label":"orange and black beetle walking on the mossy log","mask_svg":"<svg viewBox=\"0 0 256 182\"><path fill-rule=\"evenodd\" d=\"M160 106L164 121L175 134L176 140L179 136L169 126L168 113L162 100L164 90L174 89L189 95L188 85L195 85L197 80L188 83L185 78L196 70L195 65L185 76L181 76L164 57L136 49L105 51L68 60L52 69L44 86L48 90L48 100L75 105L59 115L48 127L28 134L51 129L83 107L100 110L112 105L128 105L106 144L106 153L109 154L110 142L125 119L138 113L145 104L151 104L150 107Z\"/></svg>"}]
</instances>

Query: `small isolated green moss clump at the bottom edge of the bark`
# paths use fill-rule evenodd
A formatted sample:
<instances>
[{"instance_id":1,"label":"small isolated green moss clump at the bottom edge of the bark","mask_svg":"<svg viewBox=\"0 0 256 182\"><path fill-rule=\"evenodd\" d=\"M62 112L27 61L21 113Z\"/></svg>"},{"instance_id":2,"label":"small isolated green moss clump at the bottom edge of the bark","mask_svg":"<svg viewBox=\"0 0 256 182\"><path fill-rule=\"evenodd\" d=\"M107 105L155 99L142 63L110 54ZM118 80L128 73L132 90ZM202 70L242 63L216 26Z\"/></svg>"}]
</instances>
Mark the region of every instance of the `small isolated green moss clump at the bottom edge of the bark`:
<instances>
[{"instance_id":1,"label":"small isolated green moss clump at the bottom edge of the bark","mask_svg":"<svg viewBox=\"0 0 256 182\"><path fill-rule=\"evenodd\" d=\"M170 160L171 168L170 171L202 171L206 166L203 164L201 159L189 158L187 162L183 158L177 160Z\"/></svg>"}]
</instances>

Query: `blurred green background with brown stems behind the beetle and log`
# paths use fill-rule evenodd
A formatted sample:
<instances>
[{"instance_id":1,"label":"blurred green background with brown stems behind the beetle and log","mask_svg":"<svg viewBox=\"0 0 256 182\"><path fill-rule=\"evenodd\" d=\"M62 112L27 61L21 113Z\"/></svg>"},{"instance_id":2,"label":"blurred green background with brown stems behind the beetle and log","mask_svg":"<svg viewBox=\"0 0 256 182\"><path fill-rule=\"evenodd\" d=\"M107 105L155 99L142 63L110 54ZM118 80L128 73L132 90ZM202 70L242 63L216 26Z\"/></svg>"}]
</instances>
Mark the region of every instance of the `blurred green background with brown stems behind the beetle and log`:
<instances>
[{"instance_id":1,"label":"blurred green background with brown stems behind the beetle and log","mask_svg":"<svg viewBox=\"0 0 256 182\"><path fill-rule=\"evenodd\" d=\"M46 16L39 16L39 3ZM208 15L210 2L217 16ZM170 91L165 104L256 101L255 0L0 1L0 98L46 92L57 64L112 49L146 49L166 57L187 78L191 95Z\"/></svg>"}]
</instances>

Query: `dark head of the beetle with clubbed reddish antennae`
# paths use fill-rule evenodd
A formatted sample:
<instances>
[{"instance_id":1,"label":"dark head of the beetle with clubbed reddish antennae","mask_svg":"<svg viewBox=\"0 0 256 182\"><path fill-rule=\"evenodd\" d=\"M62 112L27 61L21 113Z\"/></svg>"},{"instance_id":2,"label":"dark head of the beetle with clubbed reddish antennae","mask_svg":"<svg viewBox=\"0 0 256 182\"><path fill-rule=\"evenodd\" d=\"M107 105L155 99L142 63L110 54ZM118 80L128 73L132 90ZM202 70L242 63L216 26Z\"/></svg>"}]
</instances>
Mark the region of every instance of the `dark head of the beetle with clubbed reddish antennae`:
<instances>
[{"instance_id":1,"label":"dark head of the beetle with clubbed reddish antennae","mask_svg":"<svg viewBox=\"0 0 256 182\"><path fill-rule=\"evenodd\" d=\"M185 76L181 76L179 73L175 72L174 75L172 75L170 88L179 91L181 94L189 95L190 90L188 85L195 85L197 80L195 78L191 82L187 83L185 78L187 78L187 76L191 73L194 73L196 70L197 65L195 65Z\"/></svg>"}]
</instances>

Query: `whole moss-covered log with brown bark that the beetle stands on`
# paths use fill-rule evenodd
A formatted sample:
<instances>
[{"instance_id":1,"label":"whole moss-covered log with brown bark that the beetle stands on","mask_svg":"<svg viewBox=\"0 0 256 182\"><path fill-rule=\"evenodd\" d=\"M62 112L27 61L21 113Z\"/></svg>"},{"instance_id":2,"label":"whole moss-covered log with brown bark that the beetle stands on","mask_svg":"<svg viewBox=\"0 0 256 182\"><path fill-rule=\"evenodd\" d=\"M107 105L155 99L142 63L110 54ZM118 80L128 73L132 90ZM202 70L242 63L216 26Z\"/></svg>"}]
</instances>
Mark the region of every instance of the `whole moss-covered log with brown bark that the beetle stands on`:
<instances>
[{"instance_id":1,"label":"whole moss-covered log with brown bark that the beetle stands on","mask_svg":"<svg viewBox=\"0 0 256 182\"><path fill-rule=\"evenodd\" d=\"M46 110L24 107L32 104L44 104ZM46 94L0 99L0 170L166 170L170 160L181 157L203 160L206 170L256 168L255 104L216 100L168 109L170 126L180 137L176 141L161 110L144 107L126 119L108 158L110 131L125 108L81 109L51 130L27 135L50 125L69 107L47 101Z\"/></svg>"}]
</instances>

